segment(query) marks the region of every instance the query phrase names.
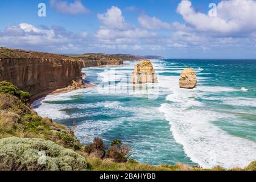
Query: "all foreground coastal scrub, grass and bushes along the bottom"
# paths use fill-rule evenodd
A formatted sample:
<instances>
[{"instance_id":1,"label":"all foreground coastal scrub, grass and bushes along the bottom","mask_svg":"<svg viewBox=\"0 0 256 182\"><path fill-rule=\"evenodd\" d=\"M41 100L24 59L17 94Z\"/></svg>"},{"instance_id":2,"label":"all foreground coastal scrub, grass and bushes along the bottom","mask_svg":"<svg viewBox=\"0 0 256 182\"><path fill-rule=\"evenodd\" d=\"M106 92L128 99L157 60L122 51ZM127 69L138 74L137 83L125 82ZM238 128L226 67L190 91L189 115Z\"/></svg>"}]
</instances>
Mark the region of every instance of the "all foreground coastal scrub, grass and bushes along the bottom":
<instances>
[{"instance_id":1,"label":"all foreground coastal scrub, grass and bushes along the bottom","mask_svg":"<svg viewBox=\"0 0 256 182\"><path fill-rule=\"evenodd\" d=\"M121 140L113 140L106 148L101 138L84 146L73 129L40 117L26 105L29 94L9 82L0 84L0 170L227 170L222 167L204 169L177 163L152 166L130 158L131 148ZM46 163L38 163L45 152ZM256 162L246 168L256 170Z\"/></svg>"}]
</instances>

